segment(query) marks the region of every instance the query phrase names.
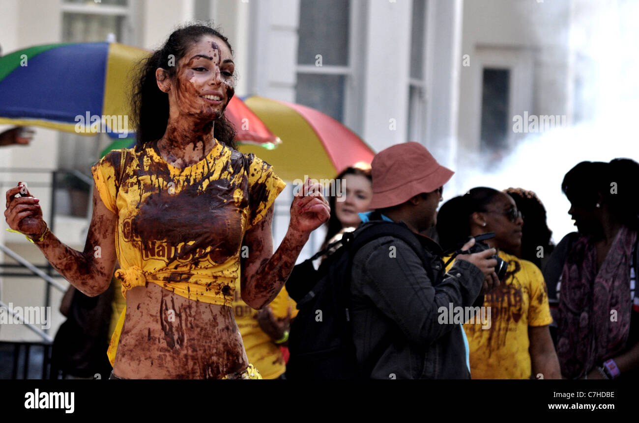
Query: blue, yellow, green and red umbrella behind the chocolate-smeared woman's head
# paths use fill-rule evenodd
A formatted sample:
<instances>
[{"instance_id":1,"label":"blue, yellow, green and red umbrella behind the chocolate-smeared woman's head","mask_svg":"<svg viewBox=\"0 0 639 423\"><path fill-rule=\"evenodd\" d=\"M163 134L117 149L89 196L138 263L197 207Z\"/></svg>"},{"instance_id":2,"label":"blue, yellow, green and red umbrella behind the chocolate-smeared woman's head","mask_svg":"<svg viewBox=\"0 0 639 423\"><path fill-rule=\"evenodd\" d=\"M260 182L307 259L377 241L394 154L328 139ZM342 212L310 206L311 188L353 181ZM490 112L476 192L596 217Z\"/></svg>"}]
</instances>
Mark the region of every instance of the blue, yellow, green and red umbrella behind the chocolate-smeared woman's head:
<instances>
[{"instance_id":1,"label":"blue, yellow, green and red umbrella behind the chocolate-smeared woman's head","mask_svg":"<svg viewBox=\"0 0 639 423\"><path fill-rule=\"evenodd\" d=\"M119 43L63 43L0 57L0 124L125 138L135 131L128 122L133 70L148 54ZM279 144L238 98L231 99L226 114L238 128L238 143Z\"/></svg>"}]
</instances>

